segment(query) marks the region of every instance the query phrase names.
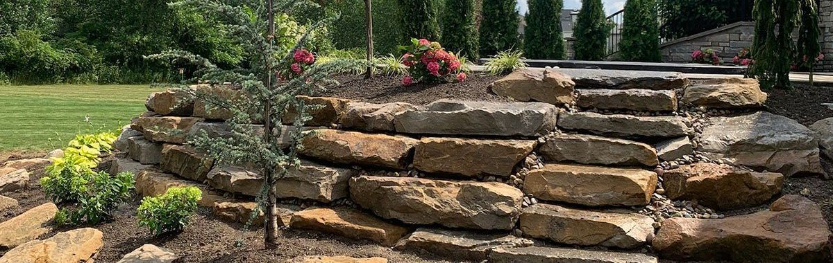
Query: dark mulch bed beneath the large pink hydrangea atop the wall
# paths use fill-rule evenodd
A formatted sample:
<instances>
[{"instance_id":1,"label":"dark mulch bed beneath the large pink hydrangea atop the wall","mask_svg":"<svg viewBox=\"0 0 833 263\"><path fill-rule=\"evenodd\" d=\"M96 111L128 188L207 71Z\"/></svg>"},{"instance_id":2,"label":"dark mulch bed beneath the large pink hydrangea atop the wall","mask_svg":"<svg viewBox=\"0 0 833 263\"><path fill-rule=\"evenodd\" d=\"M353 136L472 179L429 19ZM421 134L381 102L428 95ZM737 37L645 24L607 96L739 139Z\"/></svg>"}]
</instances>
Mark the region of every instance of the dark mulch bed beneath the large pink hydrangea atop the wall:
<instances>
[{"instance_id":1,"label":"dark mulch bed beneath the large pink hydrangea atop the wall","mask_svg":"<svg viewBox=\"0 0 833 263\"><path fill-rule=\"evenodd\" d=\"M365 80L357 75L339 75L336 80L341 82L341 85L317 95L373 103L407 102L415 105L425 105L440 99L509 101L489 93L487 86L499 78L500 76L471 74L466 81L460 83L416 83L404 86L401 76L377 75Z\"/></svg>"}]
</instances>

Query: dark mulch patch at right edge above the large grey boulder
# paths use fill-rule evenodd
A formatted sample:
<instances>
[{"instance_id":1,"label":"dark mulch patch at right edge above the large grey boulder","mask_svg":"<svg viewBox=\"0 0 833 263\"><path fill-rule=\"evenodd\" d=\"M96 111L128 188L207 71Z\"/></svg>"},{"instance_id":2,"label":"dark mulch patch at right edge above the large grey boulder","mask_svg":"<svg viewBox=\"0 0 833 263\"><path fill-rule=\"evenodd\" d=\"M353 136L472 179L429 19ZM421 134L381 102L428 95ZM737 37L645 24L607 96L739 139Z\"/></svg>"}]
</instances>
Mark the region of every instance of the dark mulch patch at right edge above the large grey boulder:
<instances>
[{"instance_id":1,"label":"dark mulch patch at right edge above the large grey boulder","mask_svg":"<svg viewBox=\"0 0 833 263\"><path fill-rule=\"evenodd\" d=\"M833 110L821 105L833 103L833 87L796 84L792 90L766 90L766 107L774 114L810 125L833 117Z\"/></svg>"}]
</instances>

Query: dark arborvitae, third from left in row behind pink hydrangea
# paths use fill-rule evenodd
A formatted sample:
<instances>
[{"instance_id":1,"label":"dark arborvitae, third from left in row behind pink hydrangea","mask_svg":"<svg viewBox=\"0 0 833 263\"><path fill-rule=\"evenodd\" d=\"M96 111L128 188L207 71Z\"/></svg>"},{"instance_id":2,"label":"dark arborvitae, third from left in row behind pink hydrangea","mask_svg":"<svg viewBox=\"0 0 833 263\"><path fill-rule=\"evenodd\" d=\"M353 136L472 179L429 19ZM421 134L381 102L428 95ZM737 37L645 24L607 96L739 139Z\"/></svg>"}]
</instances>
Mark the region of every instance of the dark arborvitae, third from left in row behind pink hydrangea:
<instances>
[{"instance_id":1,"label":"dark arborvitae, third from left in row behind pink hydrangea","mask_svg":"<svg viewBox=\"0 0 833 263\"><path fill-rule=\"evenodd\" d=\"M520 49L516 0L483 0L480 28L480 56L496 55L498 51Z\"/></svg>"}]
</instances>

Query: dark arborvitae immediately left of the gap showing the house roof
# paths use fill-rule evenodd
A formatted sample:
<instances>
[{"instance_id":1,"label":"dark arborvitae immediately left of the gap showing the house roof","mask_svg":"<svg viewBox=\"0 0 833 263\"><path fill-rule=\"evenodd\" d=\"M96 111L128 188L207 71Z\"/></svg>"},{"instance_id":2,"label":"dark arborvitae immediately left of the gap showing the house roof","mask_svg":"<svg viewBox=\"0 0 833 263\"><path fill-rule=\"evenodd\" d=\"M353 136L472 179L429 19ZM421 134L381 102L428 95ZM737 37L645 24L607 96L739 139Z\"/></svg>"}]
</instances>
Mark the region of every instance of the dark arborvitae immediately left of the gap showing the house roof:
<instances>
[{"instance_id":1,"label":"dark arborvitae immediately left of the gap showing the house roof","mask_svg":"<svg viewBox=\"0 0 833 263\"><path fill-rule=\"evenodd\" d=\"M566 59L561 33L563 0L530 0L524 29L524 55L532 59Z\"/></svg>"}]
</instances>

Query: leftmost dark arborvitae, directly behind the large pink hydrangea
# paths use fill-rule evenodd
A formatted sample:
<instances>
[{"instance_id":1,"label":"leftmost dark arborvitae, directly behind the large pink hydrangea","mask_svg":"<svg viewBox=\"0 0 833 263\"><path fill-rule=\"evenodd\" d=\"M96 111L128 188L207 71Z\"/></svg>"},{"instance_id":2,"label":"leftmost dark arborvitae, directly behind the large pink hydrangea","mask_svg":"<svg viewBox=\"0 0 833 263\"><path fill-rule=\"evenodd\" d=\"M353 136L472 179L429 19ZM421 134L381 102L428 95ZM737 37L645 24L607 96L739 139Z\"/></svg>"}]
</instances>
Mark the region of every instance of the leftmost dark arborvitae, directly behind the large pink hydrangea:
<instances>
[{"instance_id":1,"label":"leftmost dark arborvitae, directly behind the large pink hydrangea","mask_svg":"<svg viewBox=\"0 0 833 263\"><path fill-rule=\"evenodd\" d=\"M399 0L402 7L403 39L440 39L440 27L436 21L434 0Z\"/></svg>"}]
</instances>

